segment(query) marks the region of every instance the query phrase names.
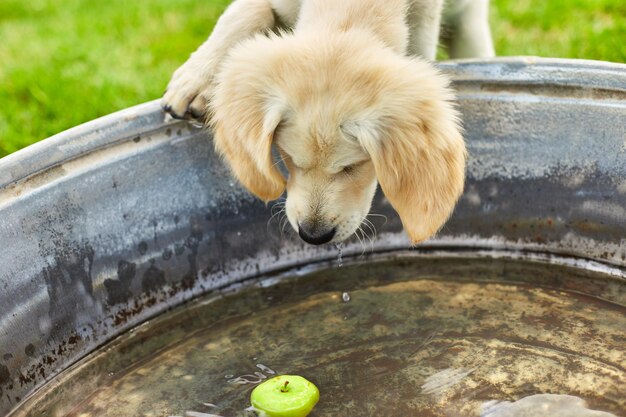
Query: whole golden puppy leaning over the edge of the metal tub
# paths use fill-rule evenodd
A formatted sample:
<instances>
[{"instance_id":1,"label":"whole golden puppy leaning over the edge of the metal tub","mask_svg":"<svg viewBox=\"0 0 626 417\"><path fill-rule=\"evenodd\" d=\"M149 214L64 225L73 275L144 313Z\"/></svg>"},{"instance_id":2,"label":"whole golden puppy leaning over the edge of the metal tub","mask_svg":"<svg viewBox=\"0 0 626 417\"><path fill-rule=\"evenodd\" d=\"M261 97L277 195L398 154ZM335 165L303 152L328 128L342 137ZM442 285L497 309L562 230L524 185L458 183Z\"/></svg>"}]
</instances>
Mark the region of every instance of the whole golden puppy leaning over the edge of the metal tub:
<instances>
[{"instance_id":1,"label":"whole golden puppy leaning over the edge of the metal tub","mask_svg":"<svg viewBox=\"0 0 626 417\"><path fill-rule=\"evenodd\" d=\"M446 10L452 57L493 55L487 0ZM217 151L259 198L286 188L287 217L306 242L354 234L377 182L421 242L464 182L453 92L427 61L442 12L440 0L236 0L174 73L163 107L208 115Z\"/></svg>"}]
</instances>

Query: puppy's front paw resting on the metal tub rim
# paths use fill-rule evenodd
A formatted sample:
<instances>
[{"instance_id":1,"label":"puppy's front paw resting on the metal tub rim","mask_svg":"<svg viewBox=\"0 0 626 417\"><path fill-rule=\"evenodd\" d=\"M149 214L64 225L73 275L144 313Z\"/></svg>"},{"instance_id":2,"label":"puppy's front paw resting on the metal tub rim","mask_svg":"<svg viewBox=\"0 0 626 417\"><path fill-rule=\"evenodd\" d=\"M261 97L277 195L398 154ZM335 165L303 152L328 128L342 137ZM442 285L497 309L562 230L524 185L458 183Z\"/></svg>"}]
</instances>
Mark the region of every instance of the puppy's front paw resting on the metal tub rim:
<instances>
[{"instance_id":1,"label":"puppy's front paw resting on the metal tub rim","mask_svg":"<svg viewBox=\"0 0 626 417\"><path fill-rule=\"evenodd\" d=\"M163 110L177 119L205 120L212 79L200 65L187 61L174 72L165 90Z\"/></svg>"}]
</instances>

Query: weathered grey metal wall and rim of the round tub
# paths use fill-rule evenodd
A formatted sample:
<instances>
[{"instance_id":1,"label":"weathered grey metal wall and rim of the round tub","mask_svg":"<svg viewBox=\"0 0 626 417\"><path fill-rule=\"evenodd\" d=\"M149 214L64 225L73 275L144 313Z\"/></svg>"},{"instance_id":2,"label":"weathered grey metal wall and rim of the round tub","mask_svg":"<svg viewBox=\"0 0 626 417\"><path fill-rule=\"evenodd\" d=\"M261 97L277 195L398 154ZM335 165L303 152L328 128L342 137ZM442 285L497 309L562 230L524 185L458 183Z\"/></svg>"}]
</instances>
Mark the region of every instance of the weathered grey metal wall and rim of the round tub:
<instances>
[{"instance_id":1,"label":"weathered grey metal wall and rim of the round tub","mask_svg":"<svg viewBox=\"0 0 626 417\"><path fill-rule=\"evenodd\" d=\"M516 58L441 68L456 80L468 181L421 248L553 254L623 280L626 66ZM406 249L382 196L374 211L388 221L371 250ZM281 236L270 215L230 179L206 132L156 102L0 160L0 413L184 300L337 256Z\"/></svg>"}]
</instances>

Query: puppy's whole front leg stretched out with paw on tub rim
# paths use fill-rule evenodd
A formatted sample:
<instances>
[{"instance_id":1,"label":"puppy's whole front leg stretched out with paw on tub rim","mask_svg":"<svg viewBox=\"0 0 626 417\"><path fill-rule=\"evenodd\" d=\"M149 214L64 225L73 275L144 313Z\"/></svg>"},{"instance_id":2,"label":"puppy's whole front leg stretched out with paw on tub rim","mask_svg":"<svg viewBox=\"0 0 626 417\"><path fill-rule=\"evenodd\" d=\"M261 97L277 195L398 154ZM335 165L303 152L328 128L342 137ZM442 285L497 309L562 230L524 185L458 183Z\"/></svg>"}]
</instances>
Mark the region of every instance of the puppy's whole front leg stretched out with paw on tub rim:
<instances>
[{"instance_id":1,"label":"puppy's whole front leg stretched out with paw on tub rim","mask_svg":"<svg viewBox=\"0 0 626 417\"><path fill-rule=\"evenodd\" d=\"M209 39L174 72L161 100L163 109L176 118L203 118L214 76L230 48L274 25L269 0L234 1L217 21Z\"/></svg>"}]
</instances>

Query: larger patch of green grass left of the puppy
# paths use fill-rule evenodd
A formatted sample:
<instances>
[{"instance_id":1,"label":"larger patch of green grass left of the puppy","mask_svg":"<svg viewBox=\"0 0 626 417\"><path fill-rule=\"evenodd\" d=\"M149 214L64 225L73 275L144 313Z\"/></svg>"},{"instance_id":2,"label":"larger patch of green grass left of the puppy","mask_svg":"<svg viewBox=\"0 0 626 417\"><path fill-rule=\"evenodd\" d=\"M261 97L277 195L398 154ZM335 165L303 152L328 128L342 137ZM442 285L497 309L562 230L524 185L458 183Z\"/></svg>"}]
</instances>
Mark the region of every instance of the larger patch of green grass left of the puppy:
<instances>
[{"instance_id":1,"label":"larger patch of green grass left of the puppy","mask_svg":"<svg viewBox=\"0 0 626 417\"><path fill-rule=\"evenodd\" d=\"M1 0L0 157L159 97L227 0Z\"/></svg>"}]
</instances>

